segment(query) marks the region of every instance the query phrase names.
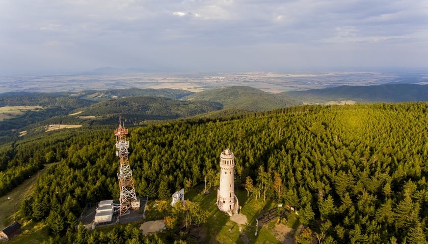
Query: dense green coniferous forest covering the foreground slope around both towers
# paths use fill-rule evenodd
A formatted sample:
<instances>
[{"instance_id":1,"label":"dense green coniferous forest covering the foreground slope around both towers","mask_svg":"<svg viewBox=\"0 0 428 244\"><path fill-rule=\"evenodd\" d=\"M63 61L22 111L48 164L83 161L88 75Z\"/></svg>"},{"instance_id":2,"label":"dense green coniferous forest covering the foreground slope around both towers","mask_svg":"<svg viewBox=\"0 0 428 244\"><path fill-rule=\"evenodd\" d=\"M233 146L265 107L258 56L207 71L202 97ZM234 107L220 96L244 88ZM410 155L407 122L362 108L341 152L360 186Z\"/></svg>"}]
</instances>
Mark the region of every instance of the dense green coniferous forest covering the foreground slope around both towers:
<instances>
[{"instance_id":1,"label":"dense green coniferous forest covering the foreground slope around both towers","mask_svg":"<svg viewBox=\"0 0 428 244\"><path fill-rule=\"evenodd\" d=\"M427 110L424 102L307 105L131 127L129 161L137 195L164 199L184 182L196 186L206 177L215 185L219 154L229 147L236 156L235 185L251 178L250 195L295 207L308 228L304 233L319 243L423 243ZM47 168L21 204L23 218L44 221L56 240L162 241L131 227L106 236L76 232L86 203L119 197L114 132L47 135L0 148L2 162L9 162L0 165L2 195L37 167L59 162ZM298 240L306 243L304 236Z\"/></svg>"}]
</instances>

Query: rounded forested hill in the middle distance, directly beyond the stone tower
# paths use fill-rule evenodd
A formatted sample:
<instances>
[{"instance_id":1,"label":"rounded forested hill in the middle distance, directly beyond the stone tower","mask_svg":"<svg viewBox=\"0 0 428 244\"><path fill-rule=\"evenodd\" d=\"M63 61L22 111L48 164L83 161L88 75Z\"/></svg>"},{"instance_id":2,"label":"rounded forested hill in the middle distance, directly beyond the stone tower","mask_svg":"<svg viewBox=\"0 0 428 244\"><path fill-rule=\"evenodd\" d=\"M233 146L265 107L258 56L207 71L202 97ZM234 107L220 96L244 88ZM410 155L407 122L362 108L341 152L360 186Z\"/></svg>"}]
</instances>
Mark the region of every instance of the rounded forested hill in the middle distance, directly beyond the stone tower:
<instances>
[{"instance_id":1,"label":"rounded forested hill in the middle distance, directly beyond the stone tower","mask_svg":"<svg viewBox=\"0 0 428 244\"><path fill-rule=\"evenodd\" d=\"M183 99L205 100L223 104L225 108L263 111L300 104L300 100L286 95L276 96L249 86L230 86L204 90Z\"/></svg>"}]
</instances>

